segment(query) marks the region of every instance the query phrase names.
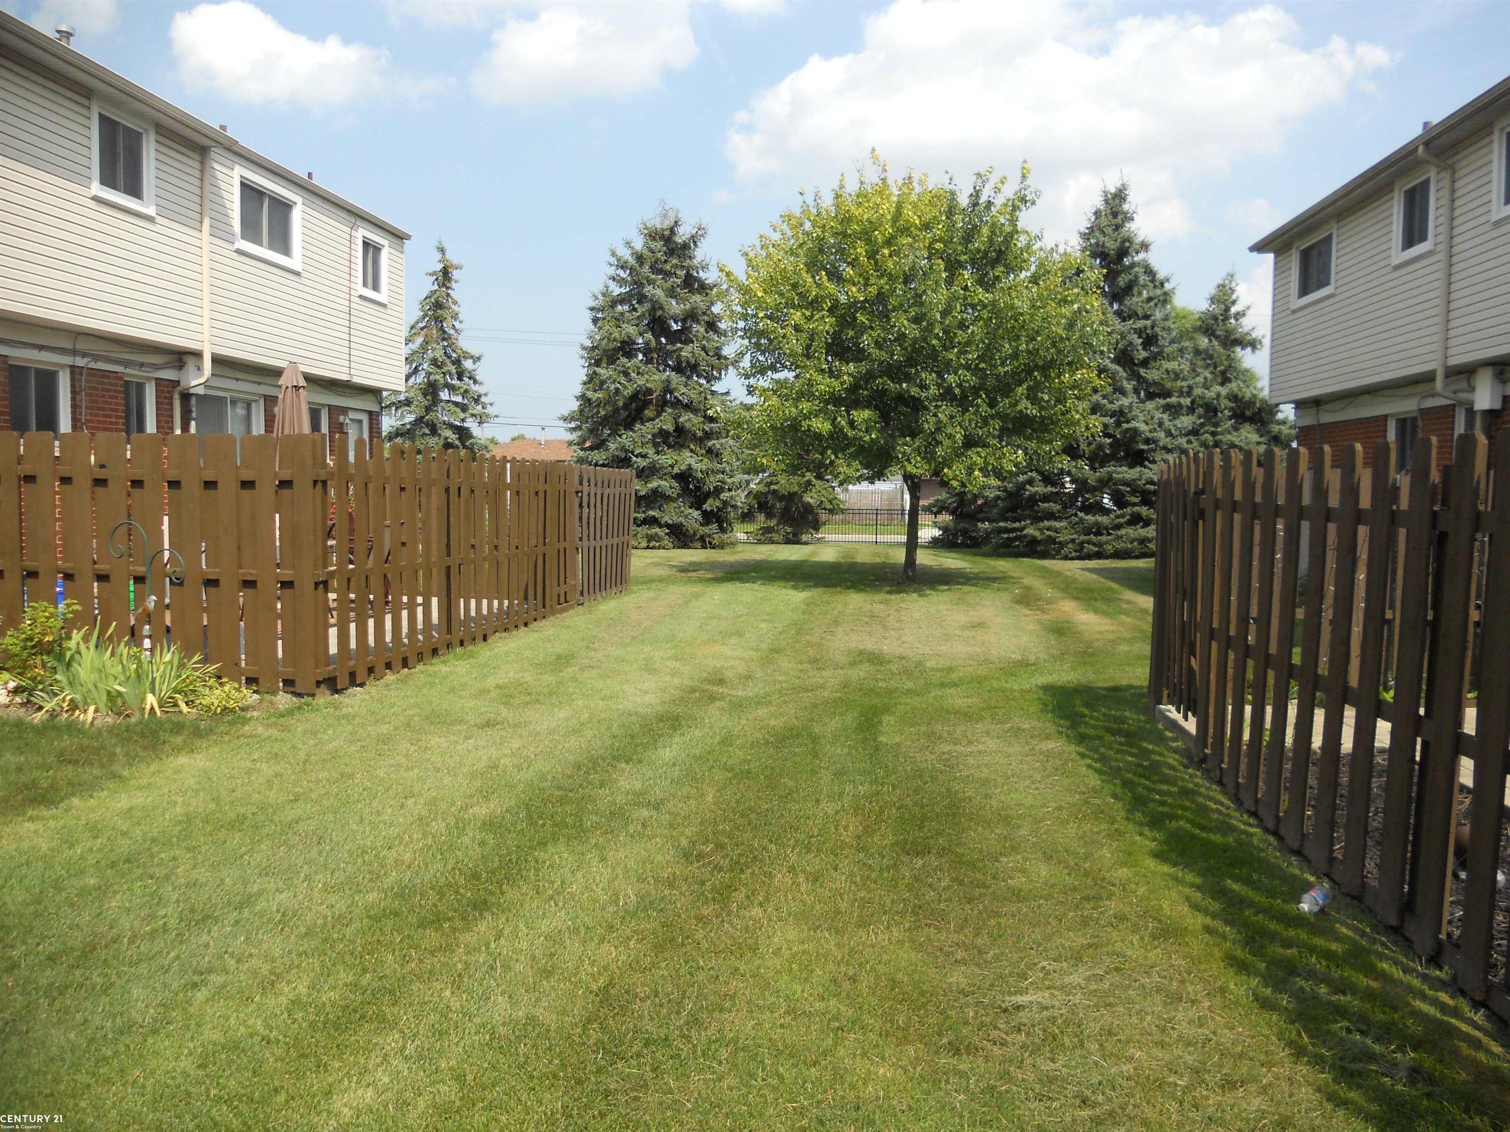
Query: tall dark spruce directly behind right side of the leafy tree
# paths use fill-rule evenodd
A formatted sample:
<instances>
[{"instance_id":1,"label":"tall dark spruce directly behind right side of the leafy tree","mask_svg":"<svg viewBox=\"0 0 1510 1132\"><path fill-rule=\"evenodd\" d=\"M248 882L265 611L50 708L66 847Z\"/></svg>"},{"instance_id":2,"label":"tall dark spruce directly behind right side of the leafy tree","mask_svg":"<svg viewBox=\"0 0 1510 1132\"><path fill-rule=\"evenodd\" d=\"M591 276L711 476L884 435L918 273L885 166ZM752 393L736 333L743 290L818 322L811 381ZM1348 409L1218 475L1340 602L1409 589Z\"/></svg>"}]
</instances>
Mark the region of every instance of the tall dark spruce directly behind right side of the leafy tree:
<instances>
[{"instance_id":1,"label":"tall dark spruce directly behind right side of the leafy tree","mask_svg":"<svg viewBox=\"0 0 1510 1132\"><path fill-rule=\"evenodd\" d=\"M1101 269L1113 320L1102 388L1090 405L1099 430L1062 460L1040 462L985 492L945 495L938 504L951 516L942 525L945 543L1063 558L1152 552L1158 463L1187 445L1178 394L1188 356L1175 296L1137 231L1126 181L1102 190L1080 246Z\"/></svg>"}]
</instances>

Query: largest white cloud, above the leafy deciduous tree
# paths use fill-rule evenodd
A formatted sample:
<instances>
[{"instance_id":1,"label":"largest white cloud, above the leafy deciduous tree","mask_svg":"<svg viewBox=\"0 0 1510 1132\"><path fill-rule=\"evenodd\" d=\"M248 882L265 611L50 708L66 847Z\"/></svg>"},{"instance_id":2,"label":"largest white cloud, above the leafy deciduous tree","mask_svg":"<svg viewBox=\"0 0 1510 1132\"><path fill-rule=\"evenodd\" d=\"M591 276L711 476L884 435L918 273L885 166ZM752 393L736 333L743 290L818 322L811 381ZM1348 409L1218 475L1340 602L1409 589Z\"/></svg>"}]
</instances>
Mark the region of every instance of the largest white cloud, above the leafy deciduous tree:
<instances>
[{"instance_id":1,"label":"largest white cloud, above the leafy deciduous tree","mask_svg":"<svg viewBox=\"0 0 1510 1132\"><path fill-rule=\"evenodd\" d=\"M1036 222L1069 237L1102 183L1125 175L1145 231L1197 231L1184 186L1276 152L1287 133L1391 63L1371 44L1300 42L1273 6L1134 15L988 0L895 0L853 54L812 56L729 128L744 183L826 187L871 148L894 166L962 180L1033 166Z\"/></svg>"}]
</instances>

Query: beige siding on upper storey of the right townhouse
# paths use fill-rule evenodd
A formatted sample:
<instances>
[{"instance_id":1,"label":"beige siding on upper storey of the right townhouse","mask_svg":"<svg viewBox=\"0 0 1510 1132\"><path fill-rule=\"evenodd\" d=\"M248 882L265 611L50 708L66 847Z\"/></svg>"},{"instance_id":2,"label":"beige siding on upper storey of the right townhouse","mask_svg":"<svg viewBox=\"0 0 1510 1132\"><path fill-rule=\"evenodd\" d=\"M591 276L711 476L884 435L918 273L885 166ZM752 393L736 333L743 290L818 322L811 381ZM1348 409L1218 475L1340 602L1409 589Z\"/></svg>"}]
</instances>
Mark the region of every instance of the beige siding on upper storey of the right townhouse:
<instances>
[{"instance_id":1,"label":"beige siding on upper storey of the right townhouse","mask_svg":"<svg viewBox=\"0 0 1510 1132\"><path fill-rule=\"evenodd\" d=\"M1492 154L1486 130L1445 157L1456 168L1450 370L1510 359L1510 222L1490 220ZM1324 299L1291 309L1294 249L1274 257L1273 400L1308 401L1434 373L1445 187L1438 175L1433 249L1398 266L1391 263L1392 183L1339 216L1336 291Z\"/></svg>"}]
</instances>

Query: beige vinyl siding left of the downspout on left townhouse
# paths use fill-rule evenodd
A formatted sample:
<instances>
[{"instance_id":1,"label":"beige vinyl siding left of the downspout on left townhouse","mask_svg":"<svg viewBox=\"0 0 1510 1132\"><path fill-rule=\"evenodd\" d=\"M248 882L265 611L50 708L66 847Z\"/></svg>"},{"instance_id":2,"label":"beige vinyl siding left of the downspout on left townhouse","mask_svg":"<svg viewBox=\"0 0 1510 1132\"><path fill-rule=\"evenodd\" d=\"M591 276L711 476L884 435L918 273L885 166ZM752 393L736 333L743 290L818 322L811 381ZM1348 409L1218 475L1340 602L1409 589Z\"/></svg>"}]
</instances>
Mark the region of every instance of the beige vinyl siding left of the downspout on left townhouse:
<instances>
[{"instance_id":1,"label":"beige vinyl siding left of the downspout on left townhouse","mask_svg":"<svg viewBox=\"0 0 1510 1132\"><path fill-rule=\"evenodd\" d=\"M198 149L159 130L157 216L91 195L89 98L0 60L0 309L199 344Z\"/></svg>"}]
</instances>

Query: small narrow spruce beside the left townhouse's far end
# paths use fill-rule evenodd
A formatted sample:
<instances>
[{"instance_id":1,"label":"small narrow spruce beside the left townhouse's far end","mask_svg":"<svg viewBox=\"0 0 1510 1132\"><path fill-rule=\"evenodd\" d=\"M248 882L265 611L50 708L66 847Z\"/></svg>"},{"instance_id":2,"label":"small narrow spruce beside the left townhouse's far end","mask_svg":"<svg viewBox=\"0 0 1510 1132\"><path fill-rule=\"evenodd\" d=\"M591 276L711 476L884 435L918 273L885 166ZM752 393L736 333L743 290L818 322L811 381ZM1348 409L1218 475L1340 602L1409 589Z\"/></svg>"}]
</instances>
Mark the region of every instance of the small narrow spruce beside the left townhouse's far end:
<instances>
[{"instance_id":1,"label":"small narrow spruce beside the left townhouse's far end","mask_svg":"<svg viewBox=\"0 0 1510 1132\"><path fill-rule=\"evenodd\" d=\"M396 418L388 441L436 448L486 447L482 424L492 415L488 394L477 379L482 355L462 346L462 315L456 305L459 263L435 241L438 263L426 275L433 279L420 299L420 314L405 338L403 392L384 398L384 414Z\"/></svg>"}]
</instances>

